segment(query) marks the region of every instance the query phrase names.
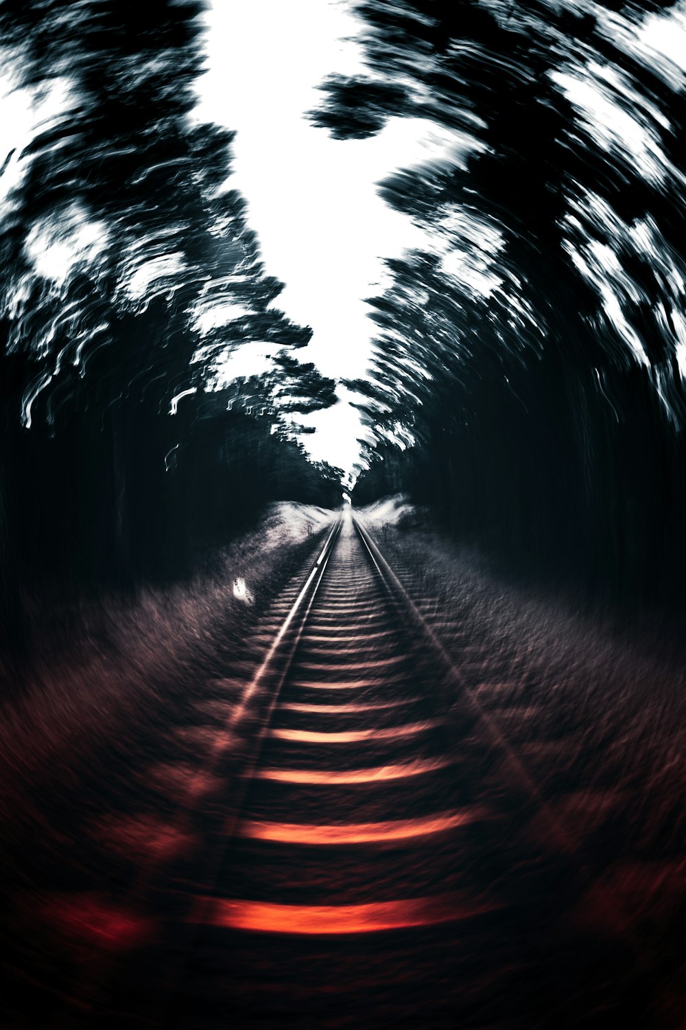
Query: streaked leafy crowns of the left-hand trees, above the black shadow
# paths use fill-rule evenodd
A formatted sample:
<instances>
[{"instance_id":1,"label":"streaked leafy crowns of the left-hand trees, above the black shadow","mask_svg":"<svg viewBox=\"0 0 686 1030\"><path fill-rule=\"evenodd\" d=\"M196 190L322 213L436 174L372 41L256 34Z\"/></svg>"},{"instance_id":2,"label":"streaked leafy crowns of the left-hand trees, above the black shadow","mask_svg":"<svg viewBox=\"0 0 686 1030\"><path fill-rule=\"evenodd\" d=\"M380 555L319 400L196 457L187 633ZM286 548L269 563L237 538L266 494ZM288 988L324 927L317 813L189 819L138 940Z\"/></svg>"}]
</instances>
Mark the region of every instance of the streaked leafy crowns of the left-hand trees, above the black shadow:
<instances>
[{"instance_id":1,"label":"streaked leafy crowns of the left-hand trees, above the black shadow","mask_svg":"<svg viewBox=\"0 0 686 1030\"><path fill-rule=\"evenodd\" d=\"M0 7L16 88L55 94L17 159L0 226L4 349L26 363L27 424L65 378L61 404L105 408L145 393L168 408L236 347L301 347L312 335L270 307L283 286L264 272L243 199L225 187L233 134L192 119L202 9Z\"/></svg>"}]
</instances>

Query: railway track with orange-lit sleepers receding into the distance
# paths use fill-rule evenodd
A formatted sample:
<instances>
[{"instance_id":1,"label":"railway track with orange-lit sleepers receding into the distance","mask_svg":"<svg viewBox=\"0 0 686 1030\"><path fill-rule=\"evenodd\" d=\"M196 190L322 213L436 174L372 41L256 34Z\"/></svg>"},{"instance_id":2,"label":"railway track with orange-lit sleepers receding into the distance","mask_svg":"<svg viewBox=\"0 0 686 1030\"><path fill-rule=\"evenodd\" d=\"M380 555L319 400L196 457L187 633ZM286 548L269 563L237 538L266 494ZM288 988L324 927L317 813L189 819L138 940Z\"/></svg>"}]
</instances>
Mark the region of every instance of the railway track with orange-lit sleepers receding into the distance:
<instances>
[{"instance_id":1,"label":"railway track with orange-lit sleepers receding into the distance","mask_svg":"<svg viewBox=\"0 0 686 1030\"><path fill-rule=\"evenodd\" d=\"M170 1030L650 1026L574 840L350 513L270 618L206 853L139 883L168 930L91 1025L133 985Z\"/></svg>"}]
</instances>

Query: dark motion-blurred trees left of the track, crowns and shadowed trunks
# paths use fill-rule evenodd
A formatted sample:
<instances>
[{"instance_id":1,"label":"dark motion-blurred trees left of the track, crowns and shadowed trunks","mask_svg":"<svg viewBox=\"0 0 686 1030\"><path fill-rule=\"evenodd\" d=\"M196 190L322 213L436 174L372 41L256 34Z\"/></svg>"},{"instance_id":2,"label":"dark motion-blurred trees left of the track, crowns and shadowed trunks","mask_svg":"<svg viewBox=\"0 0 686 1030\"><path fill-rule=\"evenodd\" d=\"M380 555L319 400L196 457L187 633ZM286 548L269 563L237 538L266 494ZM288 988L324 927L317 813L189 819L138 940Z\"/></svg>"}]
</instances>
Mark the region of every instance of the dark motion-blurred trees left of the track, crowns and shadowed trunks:
<instances>
[{"instance_id":1,"label":"dark motion-blurred trees left of the track, crowns and shadowed trunks","mask_svg":"<svg viewBox=\"0 0 686 1030\"><path fill-rule=\"evenodd\" d=\"M203 505L184 491L211 494L222 455L245 450L251 436L258 482L260 461L291 447L285 423L265 435L258 419L225 412L221 442L208 443L190 478L180 474L183 454L206 437L185 417L187 398L207 396L237 347L276 347L277 362L288 363L263 384L269 406L279 407L286 379L304 405L293 401L292 410L333 397L330 380L286 356L311 331L273 306L282 284L264 272L242 198L226 190L232 134L193 118L202 8L190 0L0 6L14 88L47 112L5 162L13 185L0 212L0 560L9 606L20 576L127 586L187 568L188 541L204 523L186 523ZM225 506L224 533L239 511L268 500L268 478L261 482ZM294 475L294 493L298 482Z\"/></svg>"}]
</instances>

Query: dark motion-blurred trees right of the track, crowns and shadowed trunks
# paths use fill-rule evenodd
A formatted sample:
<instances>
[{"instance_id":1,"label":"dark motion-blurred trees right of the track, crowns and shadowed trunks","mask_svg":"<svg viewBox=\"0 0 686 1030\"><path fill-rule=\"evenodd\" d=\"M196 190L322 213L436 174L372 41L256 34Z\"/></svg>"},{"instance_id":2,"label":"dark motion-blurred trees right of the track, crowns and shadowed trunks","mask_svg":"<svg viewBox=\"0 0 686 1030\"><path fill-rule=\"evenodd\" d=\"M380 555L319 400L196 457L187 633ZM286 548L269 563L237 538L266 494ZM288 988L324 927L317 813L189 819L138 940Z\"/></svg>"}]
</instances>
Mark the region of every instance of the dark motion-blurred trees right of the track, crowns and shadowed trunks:
<instances>
[{"instance_id":1,"label":"dark motion-blurred trees right of the track, crowns and shadowed trunks","mask_svg":"<svg viewBox=\"0 0 686 1030\"><path fill-rule=\"evenodd\" d=\"M381 186L427 246L369 302L354 503L407 490L517 573L682 607L683 73L627 42L672 7L360 3L366 72L311 116L456 140Z\"/></svg>"}]
</instances>

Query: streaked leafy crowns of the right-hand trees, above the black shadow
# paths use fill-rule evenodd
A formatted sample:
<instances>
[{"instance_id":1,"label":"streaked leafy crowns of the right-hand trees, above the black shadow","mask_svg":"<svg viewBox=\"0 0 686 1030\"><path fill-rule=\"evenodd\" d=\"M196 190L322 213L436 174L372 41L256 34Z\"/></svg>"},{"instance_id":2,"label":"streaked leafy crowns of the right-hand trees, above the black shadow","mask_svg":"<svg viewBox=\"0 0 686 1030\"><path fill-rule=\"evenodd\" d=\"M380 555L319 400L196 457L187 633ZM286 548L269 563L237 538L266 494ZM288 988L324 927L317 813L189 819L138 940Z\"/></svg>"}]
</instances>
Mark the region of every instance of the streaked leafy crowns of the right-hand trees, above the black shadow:
<instances>
[{"instance_id":1,"label":"streaked leafy crowns of the right-hand trees, above the black shadow","mask_svg":"<svg viewBox=\"0 0 686 1030\"><path fill-rule=\"evenodd\" d=\"M459 144L380 186L427 244L389 262L393 284L370 301L381 333L358 386L377 439L398 422L431 435L456 410L472 423L486 380L498 394L518 378L526 408L544 353L572 392L593 369L612 380L645 364L684 424L670 314L686 303L683 98L638 42L670 6L356 4L367 70L326 81L315 123L344 138L358 116L365 135L423 116Z\"/></svg>"}]
</instances>

